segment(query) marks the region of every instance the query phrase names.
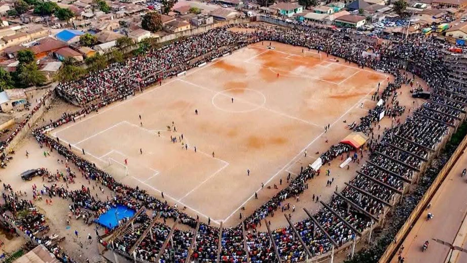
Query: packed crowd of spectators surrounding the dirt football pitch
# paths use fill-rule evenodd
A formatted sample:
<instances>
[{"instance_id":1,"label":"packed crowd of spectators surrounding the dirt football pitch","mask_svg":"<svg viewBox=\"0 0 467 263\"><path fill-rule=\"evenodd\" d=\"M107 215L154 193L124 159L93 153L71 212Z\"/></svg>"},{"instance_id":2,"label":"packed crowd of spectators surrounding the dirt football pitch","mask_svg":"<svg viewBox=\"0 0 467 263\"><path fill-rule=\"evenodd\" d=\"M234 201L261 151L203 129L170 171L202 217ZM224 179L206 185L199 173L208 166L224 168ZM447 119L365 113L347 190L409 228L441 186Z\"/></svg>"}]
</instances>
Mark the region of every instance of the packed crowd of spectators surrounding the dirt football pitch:
<instances>
[{"instance_id":1,"label":"packed crowd of spectators surrounding the dirt football pitch","mask_svg":"<svg viewBox=\"0 0 467 263\"><path fill-rule=\"evenodd\" d=\"M404 123L396 123L393 127L385 130L381 142L377 142L376 139L371 140L371 154L368 159L370 163L362 165L359 175L349 182L353 186L344 188L340 192L341 196L333 196L329 208L323 207L314 214L319 225L323 227L338 246L354 239L355 233L347 226L347 223L359 232L371 226L372 218L365 213L359 212L359 209L355 209L355 205L376 218L382 216L386 204L380 202L380 200L386 203L393 202L396 195L394 190L402 191L404 189L405 181L403 178L410 180L414 175L414 169L410 167L419 168L421 166L421 162L429 157L431 150L434 150L447 134L448 124L453 124L455 117L458 117L464 110L464 105L456 102L455 98L457 97L453 97L453 93L449 93L447 87L449 82L445 81L447 76L442 73L446 72L444 68L446 64L443 63L440 52L443 44L432 38L409 37L407 41L401 41L389 48L389 46L385 45L348 40L338 34L317 33L312 29L285 29L265 25L255 25L254 27L261 30L233 33L226 30L226 28L213 29L205 34L172 43L160 50L151 51L148 58L134 58L123 65L111 65L99 73L86 77L84 80L61 84L58 88L60 92L79 103L87 103L87 106L74 113L64 113L60 119L51 121L49 124L34 130L33 135L41 147L45 146L50 148L51 151L57 151L66 160L74 163L86 179L99 182L114 191L116 195L110 200L102 201L97 197L93 197L85 186L82 186L80 190L69 191L57 185L46 189L47 193L45 194L50 197L57 195L70 198L73 203L71 205L72 211L75 214L84 215L83 218L86 219L97 218L110 207L122 204L135 210L146 207L158 212L164 219L178 218L181 223L194 228L198 219L192 218L183 211L179 211L177 207L168 205L167 202L149 195L144 190L134 189L115 181L111 175L73 153L67 146L48 137L46 131L74 121L75 118L83 117L92 111L97 111L114 101L124 100L128 95L133 94L134 89L128 88L132 86L131 83L123 80L128 79L127 76L134 75L142 80L146 79L146 77L153 78L146 82L146 84L150 84L154 83L156 79L154 79L153 75L143 75L146 73L142 72L147 71L150 74L162 70L163 76L161 77L167 77L191 68L198 61L206 61L205 56L205 58L193 62L194 59L204 54L210 53L214 54L213 56L219 56L248 43L277 41L324 51L326 54L340 57L346 62L351 61L359 66L371 67L395 76L395 80L389 83L375 97L375 101L382 99L383 104L369 110L368 115L363 117L360 124L355 126L358 127L357 131L363 131L367 135L372 134L372 129L375 123L378 122L382 110L393 109L391 110L393 113L403 111L397 108L399 105L396 90L400 88L402 83L407 83L410 78L406 73L399 71L401 68L407 66L406 70L423 77L431 87L437 87L435 89L437 95L432 97L433 102L427 102L421 108L415 110L415 115L408 117ZM374 51L379 59L372 56L363 57L362 51L368 50ZM402 64L401 61L406 63ZM426 72L421 70L425 68ZM452 81L453 83L456 82ZM96 99L99 100L91 103ZM349 146L343 144L332 146L329 151L321 155L321 158L325 163L344 154L348 157L351 150ZM401 162L408 166L401 164ZM297 177L288 178L290 183L286 188L279 191L250 216L243 219L242 222L247 229L245 233L246 243L252 262L275 261L275 252L268 234L256 229L257 226L261 226L261 220L268 216L274 216L275 211L283 207L286 199L301 194L308 188L307 181L317 175L318 171L313 170L311 167L305 167ZM363 194L361 190L370 195ZM7 204L4 206L5 211L33 208L29 202L17 201L12 198L4 194ZM352 204L347 200L350 200ZM339 214L346 222L335 216L335 213ZM18 221L15 214L7 215L3 213L3 216L9 217L18 225L23 226L25 232L32 236L34 236L34 230L41 227L41 218ZM142 231L149 226L151 219L147 215L140 215L136 221L135 229L121 235L115 241L115 248L113 249L127 253ZM306 219L298 221L294 225L313 256L322 255L331 250L332 242L317 226L314 226L313 221ZM224 263L246 262L241 225L222 229L220 251L218 251L219 231L218 227L205 223L200 224L198 233L176 230L173 234L173 246L170 244L167 251L163 251L161 258L167 262L184 261L188 255L191 239L196 235L197 242L192 253L194 260L214 262L219 253L221 261ZM165 224L157 223L154 225L152 229L153 236L147 236L136 248L137 258L154 261L154 255L158 254L169 232L170 228ZM34 236L34 238L36 237ZM305 249L297 238L294 238L290 226L273 230L272 238L284 261L298 262L305 259ZM107 245L111 248L110 244ZM73 262L70 258L64 256L59 248L49 249L62 261Z\"/></svg>"}]
</instances>

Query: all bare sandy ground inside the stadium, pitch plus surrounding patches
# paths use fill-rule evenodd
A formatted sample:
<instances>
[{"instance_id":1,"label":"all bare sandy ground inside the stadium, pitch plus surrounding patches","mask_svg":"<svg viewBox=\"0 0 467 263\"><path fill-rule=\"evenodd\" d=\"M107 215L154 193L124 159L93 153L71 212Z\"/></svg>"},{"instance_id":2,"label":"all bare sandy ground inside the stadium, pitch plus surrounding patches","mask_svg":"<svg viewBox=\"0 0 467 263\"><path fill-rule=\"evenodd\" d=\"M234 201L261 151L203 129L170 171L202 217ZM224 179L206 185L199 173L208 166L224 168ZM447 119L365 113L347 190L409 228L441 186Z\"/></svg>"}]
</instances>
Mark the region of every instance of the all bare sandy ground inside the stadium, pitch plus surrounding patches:
<instances>
[{"instance_id":1,"label":"all bare sandy ground inside the stadium, pitch plus surrounding patches","mask_svg":"<svg viewBox=\"0 0 467 263\"><path fill-rule=\"evenodd\" d=\"M213 219L232 215L225 225L233 226L240 221L238 209L241 206L245 207L241 211L243 216L249 215L287 185L289 172L294 177L301 166L316 160L319 156L316 152L325 151L345 137L349 131L343 120L358 122L375 106L371 95L367 95L378 83L371 80L371 76L385 78L368 68L359 71L354 65L334 63L324 54L323 60L319 60L316 54L304 57L301 48L275 45L276 51L267 51L259 43L256 47L234 52L224 60L193 69L182 78L166 80L162 87L150 88L142 95L117 102L53 132L58 132L62 140L77 144L74 148L77 152L81 151L79 146L85 147L88 152L85 157L111 171L122 182L146 188L159 198L160 193L154 190L156 187L163 189L166 199L170 199L167 195L181 199L189 193L182 200L184 204L190 203L195 210L202 210ZM334 71L336 80L330 78ZM344 82L330 83L341 81ZM385 84L382 82L382 86ZM400 91L401 105L410 108L423 103L422 100L412 100L408 87ZM60 100L52 106L37 125L77 109ZM194 109L199 111L198 116L194 115ZM142 115L142 127L139 114ZM407 111L401 119L406 116ZM176 124L177 133L173 132L173 127L171 132L166 131L171 121ZM324 133L323 127L328 123L331 129ZM389 118L384 118L380 124L382 131L390 125ZM162 130L161 137L158 130ZM178 137L181 133L184 133L183 142L189 145L188 150L180 142L170 142L170 136ZM80 142L83 139L86 140ZM195 145L197 153L194 153ZM308 149L306 158L303 154L305 147ZM144 149L143 154L139 153L139 148ZM63 158L56 152L44 158L42 149L32 137L24 139L15 150L14 159L6 169L0 170L1 180L10 183L14 190L27 191L28 198L31 198L32 185L36 184L40 189L42 184L50 183L42 182L41 178L24 182L19 177L21 172L38 167L48 168L51 172L65 169L61 163ZM24 155L26 150L30 153L28 158ZM212 158L212 151L216 153L215 158ZM124 167L116 164L123 162L125 157L128 159L128 176ZM109 158L114 159L111 166L108 165ZM290 205L297 206L292 221L306 217L302 207L311 212L319 209L320 205L311 201L312 195L328 201L336 185L341 190L344 182L355 176L354 171L359 165L351 163L351 169L346 170L339 168L340 162L335 160L324 167L331 170L332 187L325 187L330 177L315 177L309 181L310 187L300 196L299 202L290 199ZM71 168L79 175L76 168ZM250 176L247 169L251 170ZM282 185L280 179L283 179ZM265 183L263 189L262 182ZM89 185L78 176L76 184L71 184L70 188L77 189L81 184ZM274 184L278 189L268 189ZM99 190L97 186L96 190ZM96 190L91 189L91 192L95 194ZM258 192L257 200L251 198L255 191ZM105 199L112 194L106 190L99 198ZM177 202L173 199L168 201L171 204ZM95 235L96 226L72 220L71 226L67 227L65 216L71 201L54 198L53 202L53 205L45 205L45 201L35 203L46 215L51 229L66 236L61 245L80 262L85 262L86 258L101 262L95 241L89 244L86 239L88 233ZM197 214L189 209L186 212L193 216ZM272 228L286 224L282 212L269 220ZM179 228L186 227L179 225ZM73 234L75 229L79 232L78 237ZM102 233L100 228L98 231ZM3 240L1 235L0 239ZM79 242L82 242L82 248Z\"/></svg>"}]
</instances>

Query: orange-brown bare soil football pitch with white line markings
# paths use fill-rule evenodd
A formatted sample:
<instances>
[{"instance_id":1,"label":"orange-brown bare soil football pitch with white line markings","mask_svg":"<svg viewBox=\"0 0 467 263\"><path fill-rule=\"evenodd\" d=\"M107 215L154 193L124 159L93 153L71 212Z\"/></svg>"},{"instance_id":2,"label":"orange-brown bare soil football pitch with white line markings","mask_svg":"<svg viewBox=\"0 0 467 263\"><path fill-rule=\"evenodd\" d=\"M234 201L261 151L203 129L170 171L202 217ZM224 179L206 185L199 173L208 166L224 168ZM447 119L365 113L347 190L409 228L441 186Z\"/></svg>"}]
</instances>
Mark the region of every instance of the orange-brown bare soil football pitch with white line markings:
<instances>
[{"instance_id":1,"label":"orange-brown bare soil football pitch with white line markings","mask_svg":"<svg viewBox=\"0 0 467 263\"><path fill-rule=\"evenodd\" d=\"M353 111L365 115L355 106L387 78L324 53L267 44L219 58L51 135L84 148L122 183L159 197L162 191L212 221L236 222L233 215L261 194L262 183L287 175L305 148L314 151L325 125Z\"/></svg>"}]
</instances>

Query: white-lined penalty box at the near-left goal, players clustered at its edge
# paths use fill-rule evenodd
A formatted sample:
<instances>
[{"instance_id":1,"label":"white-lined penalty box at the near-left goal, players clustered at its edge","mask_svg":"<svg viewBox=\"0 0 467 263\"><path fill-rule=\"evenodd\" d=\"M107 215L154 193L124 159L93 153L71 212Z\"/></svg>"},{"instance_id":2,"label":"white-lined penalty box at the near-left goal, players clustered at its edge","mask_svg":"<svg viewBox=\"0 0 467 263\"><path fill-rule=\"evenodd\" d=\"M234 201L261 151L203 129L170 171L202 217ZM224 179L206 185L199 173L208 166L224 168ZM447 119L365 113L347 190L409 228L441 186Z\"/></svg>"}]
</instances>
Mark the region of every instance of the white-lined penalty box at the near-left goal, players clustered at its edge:
<instances>
[{"instance_id":1,"label":"white-lined penalty box at the near-left goal, players clustered at its edge","mask_svg":"<svg viewBox=\"0 0 467 263\"><path fill-rule=\"evenodd\" d=\"M174 132L150 131L122 121L73 146L89 149L86 152L103 163L110 162L113 166L110 170L114 172L125 169L127 159L129 176L151 189L180 200L213 172L224 168L226 162L199 151L195 153L191 147L187 150L180 143L172 143L170 134L177 136L177 139L179 137Z\"/></svg>"}]
</instances>

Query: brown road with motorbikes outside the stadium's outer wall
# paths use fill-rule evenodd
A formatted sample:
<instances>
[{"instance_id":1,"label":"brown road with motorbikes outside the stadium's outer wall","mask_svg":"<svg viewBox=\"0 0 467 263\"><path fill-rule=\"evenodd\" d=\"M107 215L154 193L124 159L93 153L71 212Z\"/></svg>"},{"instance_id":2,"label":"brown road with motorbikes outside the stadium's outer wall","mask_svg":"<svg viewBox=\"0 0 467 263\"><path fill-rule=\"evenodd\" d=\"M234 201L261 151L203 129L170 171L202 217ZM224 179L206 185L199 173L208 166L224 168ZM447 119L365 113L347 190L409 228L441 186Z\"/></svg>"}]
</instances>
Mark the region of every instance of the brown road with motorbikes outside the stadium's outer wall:
<instances>
[{"instance_id":1,"label":"brown road with motorbikes outside the stadium's outer wall","mask_svg":"<svg viewBox=\"0 0 467 263\"><path fill-rule=\"evenodd\" d=\"M448 256L450 249L442 244L432 240L441 239L453 243L460 226L467 212L467 183L466 177L461 178L462 170L467 167L467 153L463 153L451 172L447 175L445 181L439 187L439 190L432 198L432 206L425 210L413 226L409 235L403 242L402 256L404 263L443 263ZM426 215L431 212L433 219L426 220ZM466 220L467 221L467 220ZM465 248L464 227L459 232L460 239L458 246ZM430 245L425 252L422 252L422 245L429 240ZM465 263L467 255L453 256L451 262ZM397 255L391 263L397 263Z\"/></svg>"}]
</instances>

